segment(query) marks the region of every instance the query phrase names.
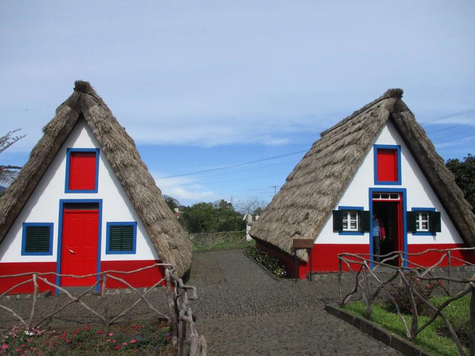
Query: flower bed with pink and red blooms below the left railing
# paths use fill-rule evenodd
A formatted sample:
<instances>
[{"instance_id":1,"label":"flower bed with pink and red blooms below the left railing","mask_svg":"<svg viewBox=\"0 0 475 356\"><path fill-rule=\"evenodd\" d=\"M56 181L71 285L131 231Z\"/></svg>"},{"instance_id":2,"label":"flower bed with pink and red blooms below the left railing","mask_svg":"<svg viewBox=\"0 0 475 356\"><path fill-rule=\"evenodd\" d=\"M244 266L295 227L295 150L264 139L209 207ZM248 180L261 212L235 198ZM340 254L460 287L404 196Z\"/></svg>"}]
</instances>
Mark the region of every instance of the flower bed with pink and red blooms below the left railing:
<instances>
[{"instance_id":1,"label":"flower bed with pink and red blooms below the left railing","mask_svg":"<svg viewBox=\"0 0 475 356\"><path fill-rule=\"evenodd\" d=\"M0 355L176 355L170 340L168 327L148 322L115 325L108 332L86 325L63 332L14 326L0 331Z\"/></svg>"}]
</instances>

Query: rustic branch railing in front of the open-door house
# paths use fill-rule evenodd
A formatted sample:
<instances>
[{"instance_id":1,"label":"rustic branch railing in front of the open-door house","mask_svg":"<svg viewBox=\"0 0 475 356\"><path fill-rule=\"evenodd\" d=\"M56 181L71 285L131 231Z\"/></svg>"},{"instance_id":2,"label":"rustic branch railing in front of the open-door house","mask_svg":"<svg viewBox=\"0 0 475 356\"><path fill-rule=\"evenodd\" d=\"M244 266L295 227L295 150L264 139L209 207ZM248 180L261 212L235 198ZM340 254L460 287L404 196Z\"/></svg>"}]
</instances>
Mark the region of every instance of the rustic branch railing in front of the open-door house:
<instances>
[{"instance_id":1,"label":"rustic branch railing in front of the open-door house","mask_svg":"<svg viewBox=\"0 0 475 356\"><path fill-rule=\"evenodd\" d=\"M365 305L365 314L366 317L371 319L372 317L372 308L375 300L380 297L380 292L384 291L388 300L392 302L394 308L401 319L406 335L409 339L414 339L419 335L424 329L427 328L438 316L442 318L447 327L447 330L450 333L453 341L455 342L458 352L460 355L465 356L465 351L462 347L462 343L457 336L453 325L447 320L443 310L449 305L449 303L462 298L463 296L472 293L471 302L470 302L470 356L475 356L475 273L470 277L467 276L454 276L453 275L453 262L456 261L458 264L465 266L475 267L470 261L460 259L454 256L454 252L469 252L474 253L475 248L455 248L455 249L428 249L420 253L406 253L403 251L395 251L386 255L371 255L371 254L351 254L351 253L341 253L338 254L338 289L340 296L340 307L343 307L350 298L358 292L358 289L361 291L361 296L363 303ZM439 260L430 267L424 267L420 264L411 261L409 258L414 256L422 256L427 253L440 253L441 257ZM376 259L380 260L377 261ZM442 267L444 260L447 259L447 267ZM373 264L373 267L371 267ZM341 285L341 276L343 271L343 266L351 272L355 285L353 289L347 294L343 295L342 285ZM438 268L438 269L436 269ZM381 269L384 269L384 272L388 273L389 276L385 279L381 276L378 276L375 272L379 272ZM438 308L432 305L427 299L425 299L421 293L414 287L411 283L411 280L407 277L408 272L413 272L417 278L430 282L430 281L447 281L448 287L443 289L447 296L450 298L447 299L443 304ZM445 274L441 271L446 271ZM472 269L473 272L473 269ZM411 312L412 312L412 322L409 326L406 322L406 319L401 313L401 308L397 304L395 298L391 295L388 290L388 286L395 282L399 277L399 283L402 285L407 293ZM376 287L372 289L372 283L370 283L369 278L372 278L376 282ZM455 295L452 295L453 283L463 284L464 288L461 291L458 291ZM374 284L374 283L373 283ZM442 284L442 283L439 283ZM424 323L422 326L418 326L418 315L416 301L422 302L425 306L432 311L432 315L429 320Z\"/></svg>"}]
</instances>

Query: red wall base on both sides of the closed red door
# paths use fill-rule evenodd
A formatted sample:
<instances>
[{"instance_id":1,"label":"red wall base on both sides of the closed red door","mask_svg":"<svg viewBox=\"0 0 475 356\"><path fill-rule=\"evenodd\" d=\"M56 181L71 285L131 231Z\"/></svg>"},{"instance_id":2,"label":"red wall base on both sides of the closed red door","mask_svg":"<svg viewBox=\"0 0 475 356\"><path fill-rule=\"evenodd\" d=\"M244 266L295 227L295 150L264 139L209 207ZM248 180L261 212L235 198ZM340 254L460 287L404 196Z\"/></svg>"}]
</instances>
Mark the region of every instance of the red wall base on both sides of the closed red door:
<instances>
[{"instance_id":1,"label":"red wall base on both sides of the closed red door","mask_svg":"<svg viewBox=\"0 0 475 356\"><path fill-rule=\"evenodd\" d=\"M117 271L131 271L143 267L151 266L161 261L144 260L144 261L102 261L101 272L106 270ZM20 274L20 273L45 273L56 272L55 262L41 262L41 263L0 263L0 275ZM153 267L145 269L140 272L122 274L111 273L111 275L119 277L130 283L133 287L150 287L165 276L165 269L163 267ZM19 277L0 278L0 293L6 292L14 285L31 279L31 274ZM54 274L47 274L44 276L51 283L56 283L56 276ZM166 283L163 282L162 285ZM45 282L39 281L38 287L40 292L50 290L55 292L55 288L47 285ZM128 288L128 286L120 281L109 278L107 280L107 288ZM33 282L25 283L19 287L8 292L8 294L33 293Z\"/></svg>"}]
</instances>

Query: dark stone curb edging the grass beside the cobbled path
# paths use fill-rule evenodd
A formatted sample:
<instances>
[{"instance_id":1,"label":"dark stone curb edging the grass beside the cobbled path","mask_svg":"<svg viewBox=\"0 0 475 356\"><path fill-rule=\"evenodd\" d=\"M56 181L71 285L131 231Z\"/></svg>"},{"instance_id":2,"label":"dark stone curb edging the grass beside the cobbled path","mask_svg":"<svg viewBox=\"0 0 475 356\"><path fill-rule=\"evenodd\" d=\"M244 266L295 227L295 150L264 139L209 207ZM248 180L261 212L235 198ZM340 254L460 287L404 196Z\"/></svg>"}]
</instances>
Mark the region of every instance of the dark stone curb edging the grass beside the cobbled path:
<instances>
[{"instance_id":1,"label":"dark stone curb edging the grass beside the cobbled path","mask_svg":"<svg viewBox=\"0 0 475 356\"><path fill-rule=\"evenodd\" d=\"M357 316L352 312L347 312L344 309L338 308L332 304L326 304L325 310L329 314L346 321L348 324L353 325L365 334L368 334L372 338L392 347L405 356L433 356L431 353L421 349L419 346L414 345L409 340L401 339L381 326Z\"/></svg>"}]
</instances>

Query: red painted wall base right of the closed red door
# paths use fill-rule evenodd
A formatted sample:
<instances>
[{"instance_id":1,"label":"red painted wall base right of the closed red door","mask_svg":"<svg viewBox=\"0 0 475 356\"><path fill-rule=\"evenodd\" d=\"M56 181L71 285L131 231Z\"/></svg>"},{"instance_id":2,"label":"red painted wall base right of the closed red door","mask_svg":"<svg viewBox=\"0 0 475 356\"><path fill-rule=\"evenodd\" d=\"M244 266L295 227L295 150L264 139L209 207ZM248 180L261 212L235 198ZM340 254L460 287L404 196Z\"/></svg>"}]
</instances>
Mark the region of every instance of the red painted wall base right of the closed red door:
<instances>
[{"instance_id":1,"label":"red painted wall base right of the closed red door","mask_svg":"<svg viewBox=\"0 0 475 356\"><path fill-rule=\"evenodd\" d=\"M118 271L131 271L143 267L148 267L161 261L144 260L144 261L102 261L100 263L101 272L106 270L118 270ZM165 268L158 266L149 269L145 269L140 272L122 274L122 273L110 273L111 275L124 279L130 283L133 287L150 287L165 277ZM163 282L162 285L166 283ZM129 288L126 284L114 280L112 278L107 279L107 288Z\"/></svg>"}]
</instances>

